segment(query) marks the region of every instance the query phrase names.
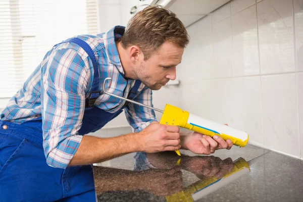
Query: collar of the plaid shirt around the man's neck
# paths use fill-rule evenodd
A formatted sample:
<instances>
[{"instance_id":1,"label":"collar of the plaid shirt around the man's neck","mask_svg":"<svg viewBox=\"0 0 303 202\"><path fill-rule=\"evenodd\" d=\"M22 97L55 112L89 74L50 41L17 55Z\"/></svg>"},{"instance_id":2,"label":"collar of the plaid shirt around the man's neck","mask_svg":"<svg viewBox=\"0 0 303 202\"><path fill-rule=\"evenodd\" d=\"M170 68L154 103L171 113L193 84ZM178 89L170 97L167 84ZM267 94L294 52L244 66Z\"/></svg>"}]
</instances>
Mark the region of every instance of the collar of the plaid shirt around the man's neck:
<instances>
[{"instance_id":1,"label":"collar of the plaid shirt around the man's neck","mask_svg":"<svg viewBox=\"0 0 303 202\"><path fill-rule=\"evenodd\" d=\"M111 64L116 65L119 72L121 72L122 74L124 74L124 70L121 65L121 61L119 58L119 53L115 41L119 40L122 37L124 31L125 31L124 26L115 26L105 34L105 40L107 42L106 48L109 56L108 60L110 61Z\"/></svg>"}]
</instances>

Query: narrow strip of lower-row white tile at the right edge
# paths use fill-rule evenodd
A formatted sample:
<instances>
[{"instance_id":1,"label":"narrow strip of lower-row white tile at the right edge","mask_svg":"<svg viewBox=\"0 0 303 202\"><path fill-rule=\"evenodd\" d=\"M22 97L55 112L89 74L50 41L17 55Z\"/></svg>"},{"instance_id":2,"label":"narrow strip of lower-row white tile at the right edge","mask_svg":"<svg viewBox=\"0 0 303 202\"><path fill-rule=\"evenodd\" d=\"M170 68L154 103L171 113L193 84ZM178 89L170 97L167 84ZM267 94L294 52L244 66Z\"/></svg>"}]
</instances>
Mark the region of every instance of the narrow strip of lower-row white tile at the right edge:
<instances>
[{"instance_id":1,"label":"narrow strip of lower-row white tile at the right edge","mask_svg":"<svg viewBox=\"0 0 303 202\"><path fill-rule=\"evenodd\" d=\"M299 126L300 126L300 157L303 157L303 73L297 75L298 83L298 107L299 107Z\"/></svg>"}]
</instances>

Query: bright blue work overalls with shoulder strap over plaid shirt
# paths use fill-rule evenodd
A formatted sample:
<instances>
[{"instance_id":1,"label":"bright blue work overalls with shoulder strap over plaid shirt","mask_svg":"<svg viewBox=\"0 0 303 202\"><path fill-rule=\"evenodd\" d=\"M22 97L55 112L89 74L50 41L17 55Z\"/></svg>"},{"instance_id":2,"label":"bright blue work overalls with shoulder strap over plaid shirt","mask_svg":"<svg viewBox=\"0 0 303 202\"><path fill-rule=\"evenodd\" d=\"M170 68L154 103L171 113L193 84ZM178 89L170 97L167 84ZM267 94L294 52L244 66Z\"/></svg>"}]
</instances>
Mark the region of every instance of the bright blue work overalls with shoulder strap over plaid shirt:
<instances>
[{"instance_id":1,"label":"bright blue work overalls with shoulder strap over plaid shirt","mask_svg":"<svg viewBox=\"0 0 303 202\"><path fill-rule=\"evenodd\" d=\"M63 42L80 45L94 68L92 91L88 93L80 135L102 128L123 109L109 113L94 107L99 96L99 73L90 46L79 38ZM138 94L141 82L136 80L128 95ZM42 146L41 118L22 124L0 120L0 201L95 201L92 165L53 168L46 164Z\"/></svg>"}]
</instances>

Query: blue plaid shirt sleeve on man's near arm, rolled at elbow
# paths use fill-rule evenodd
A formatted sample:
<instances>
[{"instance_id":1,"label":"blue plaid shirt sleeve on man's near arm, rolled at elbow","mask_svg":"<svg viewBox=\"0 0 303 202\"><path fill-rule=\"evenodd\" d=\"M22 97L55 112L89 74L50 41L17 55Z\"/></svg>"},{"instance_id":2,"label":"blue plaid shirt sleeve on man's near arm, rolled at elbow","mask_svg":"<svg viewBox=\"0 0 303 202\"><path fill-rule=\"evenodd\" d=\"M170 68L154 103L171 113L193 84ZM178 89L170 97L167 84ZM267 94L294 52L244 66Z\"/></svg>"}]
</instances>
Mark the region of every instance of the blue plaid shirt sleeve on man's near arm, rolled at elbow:
<instances>
[{"instance_id":1,"label":"blue plaid shirt sleeve on man's near arm, rolled at elbow","mask_svg":"<svg viewBox=\"0 0 303 202\"><path fill-rule=\"evenodd\" d=\"M66 48L53 52L41 66L43 148L51 167L66 168L82 140L78 130L90 77L86 65L87 59Z\"/></svg>"}]
</instances>

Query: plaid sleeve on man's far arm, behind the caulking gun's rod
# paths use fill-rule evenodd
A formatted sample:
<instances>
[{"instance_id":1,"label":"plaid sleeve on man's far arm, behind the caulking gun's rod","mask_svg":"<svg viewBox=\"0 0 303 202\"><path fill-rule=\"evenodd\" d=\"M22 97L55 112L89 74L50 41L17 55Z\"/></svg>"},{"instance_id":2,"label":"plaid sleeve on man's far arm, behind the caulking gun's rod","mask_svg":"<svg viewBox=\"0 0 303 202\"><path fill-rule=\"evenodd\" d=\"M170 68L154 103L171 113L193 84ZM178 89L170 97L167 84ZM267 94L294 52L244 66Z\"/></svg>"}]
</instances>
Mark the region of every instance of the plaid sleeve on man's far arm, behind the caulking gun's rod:
<instances>
[{"instance_id":1,"label":"plaid sleeve on man's far arm, behind the caulking gun's rod","mask_svg":"<svg viewBox=\"0 0 303 202\"><path fill-rule=\"evenodd\" d=\"M145 86L133 100L153 107L153 91ZM155 111L149 108L129 103L125 109L126 119L133 128L133 132L140 132L151 122L157 121Z\"/></svg>"}]
</instances>

